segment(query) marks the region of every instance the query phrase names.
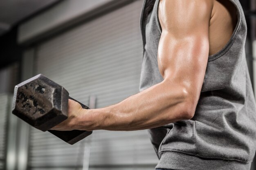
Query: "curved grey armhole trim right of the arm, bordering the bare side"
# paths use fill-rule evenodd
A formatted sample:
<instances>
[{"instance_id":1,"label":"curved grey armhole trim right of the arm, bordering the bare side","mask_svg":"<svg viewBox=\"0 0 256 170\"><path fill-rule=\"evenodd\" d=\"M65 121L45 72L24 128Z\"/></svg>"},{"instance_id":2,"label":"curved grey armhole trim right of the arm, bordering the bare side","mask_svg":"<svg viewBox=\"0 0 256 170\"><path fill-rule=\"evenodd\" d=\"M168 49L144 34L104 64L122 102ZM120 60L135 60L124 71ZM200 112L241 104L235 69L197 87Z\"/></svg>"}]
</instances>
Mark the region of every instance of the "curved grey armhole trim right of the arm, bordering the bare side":
<instances>
[{"instance_id":1,"label":"curved grey armhole trim right of the arm, bordering the bare side","mask_svg":"<svg viewBox=\"0 0 256 170\"><path fill-rule=\"evenodd\" d=\"M234 6L236 7L236 10L237 10L236 15L237 15L238 21L236 23L236 27L231 35L231 38L227 42L227 44L217 53L208 56L208 62L216 60L219 57L221 57L222 55L224 55L230 49L230 47L233 45L233 43L235 42L238 32L240 30L240 27L242 24L242 13L241 13L242 9L240 9L240 6L237 4L237 2L235 2L235 0L230 0L230 2L232 2L232 4L234 4Z\"/></svg>"}]
</instances>

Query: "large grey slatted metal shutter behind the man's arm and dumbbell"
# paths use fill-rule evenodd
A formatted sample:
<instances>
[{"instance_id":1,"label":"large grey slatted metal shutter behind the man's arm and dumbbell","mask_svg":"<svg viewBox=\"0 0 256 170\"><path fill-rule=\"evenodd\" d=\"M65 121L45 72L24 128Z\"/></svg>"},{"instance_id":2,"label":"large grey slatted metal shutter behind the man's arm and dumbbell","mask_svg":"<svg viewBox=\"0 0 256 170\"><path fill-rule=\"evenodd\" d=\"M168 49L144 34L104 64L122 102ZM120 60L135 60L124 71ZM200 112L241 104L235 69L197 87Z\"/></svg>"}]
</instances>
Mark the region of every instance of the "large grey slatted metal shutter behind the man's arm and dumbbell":
<instances>
[{"instance_id":1,"label":"large grey slatted metal shutter behind the man's arm and dumbbell","mask_svg":"<svg viewBox=\"0 0 256 170\"><path fill-rule=\"evenodd\" d=\"M39 44L36 73L61 84L71 97L84 104L89 104L90 95L96 95L97 108L137 93L142 57L139 30L142 3L137 0ZM84 146L88 152L83 152ZM81 167L84 154L90 170L146 170L154 169L157 163L146 130L96 130L73 146L47 132L31 130L29 168L32 170Z\"/></svg>"}]
</instances>

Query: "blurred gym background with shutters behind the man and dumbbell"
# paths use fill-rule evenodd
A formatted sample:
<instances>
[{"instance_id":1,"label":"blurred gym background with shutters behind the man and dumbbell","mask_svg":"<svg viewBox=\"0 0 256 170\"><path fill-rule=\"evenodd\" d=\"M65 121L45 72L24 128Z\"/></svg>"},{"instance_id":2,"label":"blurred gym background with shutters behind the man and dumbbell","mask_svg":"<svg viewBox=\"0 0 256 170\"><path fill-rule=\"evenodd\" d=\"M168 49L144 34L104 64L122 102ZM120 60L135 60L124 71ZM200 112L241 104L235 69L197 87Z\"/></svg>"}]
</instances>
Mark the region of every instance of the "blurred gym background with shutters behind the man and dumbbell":
<instances>
[{"instance_id":1,"label":"blurred gym background with shutters behind the man and dumbbell","mask_svg":"<svg viewBox=\"0 0 256 170\"><path fill-rule=\"evenodd\" d=\"M240 1L256 88L256 0ZM153 170L146 130L94 131L73 146L11 114L13 88L42 73L91 108L138 92L143 0L0 1L0 170ZM251 170L256 170L254 163Z\"/></svg>"}]
</instances>

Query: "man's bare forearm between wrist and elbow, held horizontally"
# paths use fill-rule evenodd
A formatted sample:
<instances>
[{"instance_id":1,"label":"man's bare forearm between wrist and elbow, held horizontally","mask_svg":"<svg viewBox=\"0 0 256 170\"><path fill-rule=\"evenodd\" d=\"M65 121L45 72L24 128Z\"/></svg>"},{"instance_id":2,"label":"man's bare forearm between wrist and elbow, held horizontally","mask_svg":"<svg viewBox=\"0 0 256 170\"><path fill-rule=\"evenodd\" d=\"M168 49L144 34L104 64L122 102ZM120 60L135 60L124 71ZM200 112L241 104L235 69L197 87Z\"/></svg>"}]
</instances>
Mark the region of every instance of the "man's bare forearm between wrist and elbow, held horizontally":
<instances>
[{"instance_id":1,"label":"man's bare forearm between wrist and elbow, held horizontally","mask_svg":"<svg viewBox=\"0 0 256 170\"><path fill-rule=\"evenodd\" d=\"M186 89L163 81L124 101L106 108L84 110L80 127L87 130L142 130L184 119L189 103ZM87 121L83 121L83 120ZM81 129L86 130L86 129Z\"/></svg>"}]
</instances>

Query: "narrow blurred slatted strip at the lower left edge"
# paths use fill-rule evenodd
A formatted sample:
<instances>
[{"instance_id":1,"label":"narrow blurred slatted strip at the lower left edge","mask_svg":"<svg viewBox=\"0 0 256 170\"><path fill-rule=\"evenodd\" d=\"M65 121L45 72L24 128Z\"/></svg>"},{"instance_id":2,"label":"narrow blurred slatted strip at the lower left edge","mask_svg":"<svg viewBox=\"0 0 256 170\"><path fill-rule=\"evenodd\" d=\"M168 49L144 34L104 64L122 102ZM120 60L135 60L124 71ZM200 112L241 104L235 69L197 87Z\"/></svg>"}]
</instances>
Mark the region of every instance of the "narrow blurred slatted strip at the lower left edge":
<instances>
[{"instance_id":1,"label":"narrow blurred slatted strip at the lower left edge","mask_svg":"<svg viewBox=\"0 0 256 170\"><path fill-rule=\"evenodd\" d=\"M8 96L0 94L0 170L4 170L6 148L6 123L8 111Z\"/></svg>"}]
</instances>

